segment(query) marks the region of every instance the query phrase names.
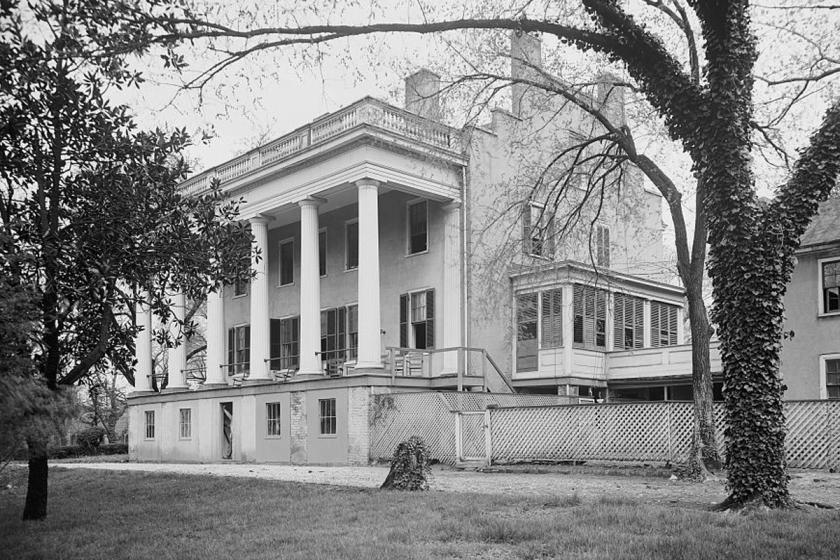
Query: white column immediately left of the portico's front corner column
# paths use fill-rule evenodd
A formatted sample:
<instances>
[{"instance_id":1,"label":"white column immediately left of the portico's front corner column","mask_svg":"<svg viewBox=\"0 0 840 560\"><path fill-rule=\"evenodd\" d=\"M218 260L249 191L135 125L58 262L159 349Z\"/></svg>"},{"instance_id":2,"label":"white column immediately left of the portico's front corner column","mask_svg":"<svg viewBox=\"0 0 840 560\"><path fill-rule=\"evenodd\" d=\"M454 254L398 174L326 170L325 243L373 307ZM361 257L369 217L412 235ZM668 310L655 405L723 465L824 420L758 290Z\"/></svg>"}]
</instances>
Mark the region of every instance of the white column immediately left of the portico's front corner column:
<instances>
[{"instance_id":1,"label":"white column immediately left of the portico's front corner column","mask_svg":"<svg viewBox=\"0 0 840 560\"><path fill-rule=\"evenodd\" d=\"M321 277L318 271L318 204L300 205L300 375L323 373L321 357Z\"/></svg>"}]
</instances>

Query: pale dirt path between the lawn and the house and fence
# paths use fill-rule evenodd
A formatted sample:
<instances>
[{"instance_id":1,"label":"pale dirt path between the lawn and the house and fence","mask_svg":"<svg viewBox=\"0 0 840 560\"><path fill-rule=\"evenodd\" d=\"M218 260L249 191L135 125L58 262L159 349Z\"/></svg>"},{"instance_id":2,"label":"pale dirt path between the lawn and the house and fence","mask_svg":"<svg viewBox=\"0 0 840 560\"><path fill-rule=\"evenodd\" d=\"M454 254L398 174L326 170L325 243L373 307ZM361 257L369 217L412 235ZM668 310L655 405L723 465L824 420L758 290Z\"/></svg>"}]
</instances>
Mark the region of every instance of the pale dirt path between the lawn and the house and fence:
<instances>
[{"instance_id":1,"label":"pale dirt path between the lawn and the house and fence","mask_svg":"<svg viewBox=\"0 0 840 560\"><path fill-rule=\"evenodd\" d=\"M180 473L210 476L240 476L333 484L363 488L378 487L387 467L319 467L255 464L178 464L178 463L60 463L57 468L99 469ZM819 502L840 508L840 474L824 471L791 471L790 491L804 502ZM661 505L682 504L708 507L726 497L724 480L702 484L662 477L610 476L586 473L475 472L436 468L433 491L517 494L566 498L577 494L581 500L632 500Z\"/></svg>"}]
</instances>

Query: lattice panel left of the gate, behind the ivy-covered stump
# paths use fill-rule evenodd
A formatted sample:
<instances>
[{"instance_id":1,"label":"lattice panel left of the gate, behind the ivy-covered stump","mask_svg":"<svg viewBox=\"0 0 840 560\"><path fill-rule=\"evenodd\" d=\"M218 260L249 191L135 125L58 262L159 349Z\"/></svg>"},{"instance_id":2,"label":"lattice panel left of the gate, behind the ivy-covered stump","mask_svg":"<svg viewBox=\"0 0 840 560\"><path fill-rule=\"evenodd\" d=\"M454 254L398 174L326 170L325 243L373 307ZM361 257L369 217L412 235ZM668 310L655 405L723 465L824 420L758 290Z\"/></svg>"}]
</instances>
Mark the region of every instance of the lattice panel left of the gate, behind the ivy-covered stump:
<instances>
[{"instance_id":1,"label":"lattice panel left of the gate, behind the ivy-covered stump","mask_svg":"<svg viewBox=\"0 0 840 560\"><path fill-rule=\"evenodd\" d=\"M394 408L380 407L380 418L371 415L370 458L390 459L401 441L420 436L426 441L432 459L455 462L455 416L438 393L400 393L376 395L391 399Z\"/></svg>"}]
</instances>

